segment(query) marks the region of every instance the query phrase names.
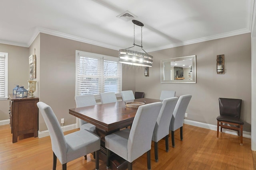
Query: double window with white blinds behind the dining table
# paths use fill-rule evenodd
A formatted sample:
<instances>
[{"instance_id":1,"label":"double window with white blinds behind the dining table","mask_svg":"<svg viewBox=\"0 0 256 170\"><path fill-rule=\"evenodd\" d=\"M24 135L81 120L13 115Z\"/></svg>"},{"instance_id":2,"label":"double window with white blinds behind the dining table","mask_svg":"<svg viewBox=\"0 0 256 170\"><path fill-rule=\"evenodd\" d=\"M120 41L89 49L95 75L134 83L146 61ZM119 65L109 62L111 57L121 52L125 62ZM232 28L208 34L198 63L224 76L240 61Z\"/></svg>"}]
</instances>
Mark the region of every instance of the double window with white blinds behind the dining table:
<instances>
[{"instance_id":1,"label":"double window with white blinds behind the dining table","mask_svg":"<svg viewBox=\"0 0 256 170\"><path fill-rule=\"evenodd\" d=\"M76 95L122 91L122 64L117 57L76 51Z\"/></svg>"}]
</instances>

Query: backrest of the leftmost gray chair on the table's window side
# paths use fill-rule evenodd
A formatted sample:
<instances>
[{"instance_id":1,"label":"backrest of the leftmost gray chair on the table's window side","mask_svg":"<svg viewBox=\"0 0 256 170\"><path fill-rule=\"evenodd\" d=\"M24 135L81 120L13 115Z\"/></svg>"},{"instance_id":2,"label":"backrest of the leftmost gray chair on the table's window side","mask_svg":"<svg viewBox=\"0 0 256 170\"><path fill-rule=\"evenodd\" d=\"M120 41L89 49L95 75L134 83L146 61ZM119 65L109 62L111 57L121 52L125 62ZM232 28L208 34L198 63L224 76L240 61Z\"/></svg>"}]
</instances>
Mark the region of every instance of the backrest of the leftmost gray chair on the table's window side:
<instances>
[{"instance_id":1,"label":"backrest of the leftmost gray chair on the table's window side","mask_svg":"<svg viewBox=\"0 0 256 170\"><path fill-rule=\"evenodd\" d=\"M76 107L86 107L86 106L96 105L96 100L93 94L75 96L75 101L76 101ZM78 119L78 121L80 126L83 125L84 123L87 123L82 119Z\"/></svg>"}]
</instances>

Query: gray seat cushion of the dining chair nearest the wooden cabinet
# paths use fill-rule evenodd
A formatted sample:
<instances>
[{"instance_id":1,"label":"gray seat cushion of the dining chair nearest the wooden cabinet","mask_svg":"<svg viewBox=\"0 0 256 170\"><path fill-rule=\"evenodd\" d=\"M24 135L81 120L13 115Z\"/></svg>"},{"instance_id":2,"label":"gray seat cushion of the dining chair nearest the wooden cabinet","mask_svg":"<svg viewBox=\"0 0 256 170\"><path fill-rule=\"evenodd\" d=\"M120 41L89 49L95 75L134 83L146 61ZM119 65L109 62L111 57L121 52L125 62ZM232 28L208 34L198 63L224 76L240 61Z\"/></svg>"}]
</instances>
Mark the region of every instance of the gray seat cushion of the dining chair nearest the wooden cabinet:
<instances>
[{"instance_id":1,"label":"gray seat cushion of the dining chair nearest the wooden cabinet","mask_svg":"<svg viewBox=\"0 0 256 170\"><path fill-rule=\"evenodd\" d=\"M100 137L87 130L80 130L64 136L67 143L66 162L80 158L100 149ZM66 162L62 162L62 164Z\"/></svg>"}]
</instances>

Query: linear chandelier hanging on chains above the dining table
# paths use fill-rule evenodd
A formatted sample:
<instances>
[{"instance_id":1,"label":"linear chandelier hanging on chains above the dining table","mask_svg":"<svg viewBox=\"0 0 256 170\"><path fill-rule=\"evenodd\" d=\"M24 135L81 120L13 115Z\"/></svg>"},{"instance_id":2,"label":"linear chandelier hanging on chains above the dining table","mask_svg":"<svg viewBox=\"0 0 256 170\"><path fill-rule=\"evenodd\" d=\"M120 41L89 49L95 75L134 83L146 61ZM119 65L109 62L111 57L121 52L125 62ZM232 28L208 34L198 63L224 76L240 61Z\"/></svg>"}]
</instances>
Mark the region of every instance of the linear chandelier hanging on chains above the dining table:
<instances>
[{"instance_id":1,"label":"linear chandelier hanging on chains above the dining table","mask_svg":"<svg viewBox=\"0 0 256 170\"><path fill-rule=\"evenodd\" d=\"M153 64L153 56L148 55L148 53L142 48L142 27L144 26L143 23L137 20L132 20L133 22L133 46L135 45L141 47L141 49L145 52L138 52L133 50L128 50L132 47L126 49L119 50L119 62L124 64L130 64L135 66L146 66L152 67ZM135 44L135 24L141 27L141 45Z\"/></svg>"}]
</instances>

